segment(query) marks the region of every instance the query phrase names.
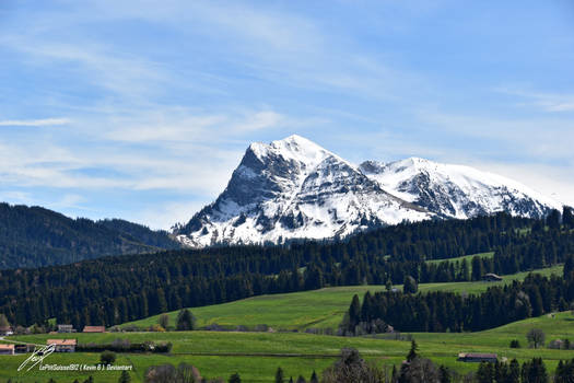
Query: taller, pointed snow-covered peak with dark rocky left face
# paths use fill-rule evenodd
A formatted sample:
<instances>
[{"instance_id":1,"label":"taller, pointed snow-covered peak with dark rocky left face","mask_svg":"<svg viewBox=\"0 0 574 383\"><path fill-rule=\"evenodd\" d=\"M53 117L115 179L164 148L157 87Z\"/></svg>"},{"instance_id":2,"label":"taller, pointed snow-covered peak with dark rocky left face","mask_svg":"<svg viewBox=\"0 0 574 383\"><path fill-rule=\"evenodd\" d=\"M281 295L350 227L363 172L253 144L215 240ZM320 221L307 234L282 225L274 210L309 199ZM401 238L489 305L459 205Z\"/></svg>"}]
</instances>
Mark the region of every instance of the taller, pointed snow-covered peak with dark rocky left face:
<instances>
[{"instance_id":1,"label":"taller, pointed snow-covered peak with dark rocky left face","mask_svg":"<svg viewBox=\"0 0 574 383\"><path fill-rule=\"evenodd\" d=\"M183 243L282 243L344 236L433 214L300 136L253 143L225 190L175 233Z\"/></svg>"}]
</instances>

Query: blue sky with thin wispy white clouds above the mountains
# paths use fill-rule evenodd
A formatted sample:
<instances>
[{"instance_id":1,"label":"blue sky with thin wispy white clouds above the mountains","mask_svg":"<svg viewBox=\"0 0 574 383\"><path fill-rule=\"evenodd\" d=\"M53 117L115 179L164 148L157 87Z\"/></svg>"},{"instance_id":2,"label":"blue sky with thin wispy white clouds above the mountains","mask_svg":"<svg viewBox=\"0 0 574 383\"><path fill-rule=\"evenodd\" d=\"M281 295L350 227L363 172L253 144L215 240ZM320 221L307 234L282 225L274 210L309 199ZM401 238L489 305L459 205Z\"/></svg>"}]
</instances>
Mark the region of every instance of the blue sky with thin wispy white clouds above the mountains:
<instances>
[{"instance_id":1,"label":"blue sky with thin wispy white clouds above the mountains","mask_svg":"<svg viewBox=\"0 0 574 383\"><path fill-rule=\"evenodd\" d=\"M0 1L0 200L152 228L251 141L423 156L574 205L572 1Z\"/></svg>"}]
</instances>

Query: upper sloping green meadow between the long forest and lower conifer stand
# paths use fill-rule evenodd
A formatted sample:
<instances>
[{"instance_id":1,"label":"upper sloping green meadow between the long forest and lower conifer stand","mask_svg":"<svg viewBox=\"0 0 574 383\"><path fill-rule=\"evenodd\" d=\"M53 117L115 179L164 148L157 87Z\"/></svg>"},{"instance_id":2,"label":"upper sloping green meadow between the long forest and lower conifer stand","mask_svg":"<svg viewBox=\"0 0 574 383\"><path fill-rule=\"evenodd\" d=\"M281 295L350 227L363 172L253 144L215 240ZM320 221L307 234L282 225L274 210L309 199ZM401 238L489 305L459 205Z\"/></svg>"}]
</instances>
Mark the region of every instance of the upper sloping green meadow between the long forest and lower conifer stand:
<instances>
[{"instance_id":1,"label":"upper sloping green meadow between the long forest and lower conifer stand","mask_svg":"<svg viewBox=\"0 0 574 383\"><path fill-rule=\"evenodd\" d=\"M562 266L535 270L549 276L550 274L562 274ZM504 276L501 282L449 282L449 283L421 283L420 291L454 291L479 293L489 287L509 283L513 280L524 280L528 272L518 272ZM396 286L402 289L402 286ZM203 327L216 323L227 328L238 325L254 327L266 324L274 329L298 329L306 328L333 328L336 329L349 309L354 294L363 297L371 292L385 290L384 286L352 286L324 288L320 290L294 292L288 294L259 295L241 301L215 304L203 307L194 307L191 312L198 318L198 326ZM169 323L175 325L177 312L171 312ZM151 316L141 321L125 325L137 325L149 327L157 323L159 316Z\"/></svg>"}]
</instances>

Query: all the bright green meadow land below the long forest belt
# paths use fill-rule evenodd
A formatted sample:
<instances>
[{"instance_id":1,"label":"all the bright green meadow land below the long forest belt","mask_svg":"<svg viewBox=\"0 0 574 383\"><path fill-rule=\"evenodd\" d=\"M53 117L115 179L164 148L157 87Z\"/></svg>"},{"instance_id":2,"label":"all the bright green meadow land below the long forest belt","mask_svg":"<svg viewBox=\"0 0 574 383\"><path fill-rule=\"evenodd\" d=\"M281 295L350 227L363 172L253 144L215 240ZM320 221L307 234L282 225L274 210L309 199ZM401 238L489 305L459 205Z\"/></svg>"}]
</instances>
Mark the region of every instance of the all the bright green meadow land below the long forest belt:
<instances>
[{"instance_id":1,"label":"all the bright green meadow land below the long forest belt","mask_svg":"<svg viewBox=\"0 0 574 383\"><path fill-rule=\"evenodd\" d=\"M536 270L543 275L561 274L562 267L557 266ZM420 285L420 291L455 291L480 293L488 287L509 283L524 279L528 272L504 276L501 282L460 282L460 283L426 283ZM397 286L401 288L401 286ZM340 323L352 297L360 297L367 290L380 291L383 286L356 286L325 288L315 291L289 294L262 295L224 304L195 307L198 325L218 323L227 328L238 325L255 327L267 324L271 332L165 332L165 333L105 333L105 334L59 334L59 335L26 335L12 336L8 340L19 340L45 345L48 338L77 338L81 344L112 343L115 339L129 339L131 343L147 340L169 341L173 349L169 355L159 353L118 353L116 365L132 365L133 382L143 382L145 370L161 363L178 364L187 362L196 365L207 378L227 379L238 372L244 382L271 382L278 367L286 376L308 379L313 370L320 372L337 360L341 348L354 347L367 359L389 369L399 364L410 348L408 340L393 340L388 336L374 337L338 337L304 333L307 328L336 329ZM177 312L168 314L172 325L175 324ZM148 327L157 323L157 316L152 316L130 324ZM125 324L128 325L128 324ZM462 363L456 360L459 352L496 352L501 358L517 358L520 361L532 357L542 357L550 371L561 359L574 358L572 350L552 350L548 348L527 348L526 334L530 328L541 328L547 335L547 343L552 339L570 338L574 340L574 315L570 312L557 315L544 315L515 322L499 328L478 333L414 333L409 334L417 339L423 357L445 364L461 373L475 371L476 363ZM283 332L285 330L285 332ZM286 332L289 330L289 332ZM403 336L407 336L403 334ZM512 349L509 343L518 339L523 348ZM12 378L17 381L82 382L90 374L95 382L117 382L120 372L59 372L59 371L17 371L17 367L28 356L0 356L0 382ZM75 352L55 353L45 363L94 365L99 360L99 353Z\"/></svg>"}]
</instances>

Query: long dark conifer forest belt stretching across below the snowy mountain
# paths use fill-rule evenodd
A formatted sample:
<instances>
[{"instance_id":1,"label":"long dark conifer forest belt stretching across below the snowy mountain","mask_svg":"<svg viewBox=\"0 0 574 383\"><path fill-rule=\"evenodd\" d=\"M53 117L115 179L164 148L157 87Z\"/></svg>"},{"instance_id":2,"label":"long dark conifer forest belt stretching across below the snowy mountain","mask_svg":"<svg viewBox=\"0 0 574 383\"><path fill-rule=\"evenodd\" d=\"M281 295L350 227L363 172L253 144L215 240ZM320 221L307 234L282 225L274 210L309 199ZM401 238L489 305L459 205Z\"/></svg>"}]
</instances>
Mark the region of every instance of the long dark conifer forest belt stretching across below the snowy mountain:
<instances>
[{"instance_id":1,"label":"long dark conifer forest belt stretching across below the snowy mountain","mask_svg":"<svg viewBox=\"0 0 574 383\"><path fill-rule=\"evenodd\" d=\"M179 249L0 274L0 312L12 323L113 325L180 307L325 286L468 280L448 258L495 252L483 270L528 270L574 253L572 223L506 213L425 221L289 247ZM558 217L558 225L554 223ZM442 259L429 266L425 259ZM564 298L566 299L566 298ZM438 327L436 327L438 329ZM466 328L443 325L443 329Z\"/></svg>"}]
</instances>

